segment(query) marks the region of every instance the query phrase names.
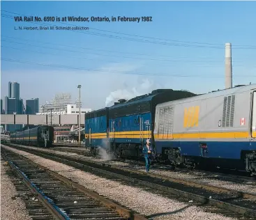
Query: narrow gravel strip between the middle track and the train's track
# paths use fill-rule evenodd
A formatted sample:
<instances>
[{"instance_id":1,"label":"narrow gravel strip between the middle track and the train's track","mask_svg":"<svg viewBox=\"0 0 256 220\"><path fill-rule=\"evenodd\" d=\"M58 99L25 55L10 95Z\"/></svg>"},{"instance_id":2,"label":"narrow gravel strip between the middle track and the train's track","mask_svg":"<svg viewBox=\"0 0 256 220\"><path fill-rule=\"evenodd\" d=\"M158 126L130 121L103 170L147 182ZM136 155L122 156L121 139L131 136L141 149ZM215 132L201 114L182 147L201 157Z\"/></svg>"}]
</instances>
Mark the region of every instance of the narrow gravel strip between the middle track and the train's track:
<instances>
[{"instance_id":1,"label":"narrow gravel strip between the middle track and the train's track","mask_svg":"<svg viewBox=\"0 0 256 220\"><path fill-rule=\"evenodd\" d=\"M22 148L30 148L30 147L26 147L26 146L22 146ZM37 149L38 150L38 149ZM59 155L69 155L69 156L75 156L77 159L88 159L94 162L105 162L107 164L112 164L112 165L116 165L116 166L123 166L123 167L127 167L127 166L131 166L130 164L128 164L127 162L115 162L115 161L106 161L105 158L109 158L107 157L107 155L104 156L103 154L103 158L95 158L95 157L88 157L88 156L84 156L84 155L78 155L74 152L59 152L56 150L49 150L49 149L39 149L41 151L46 151L46 152L53 152L53 153L57 153ZM133 166L134 169L138 170L138 171L144 171L145 172L145 168L144 166L140 166L140 165L136 165ZM198 179L198 175L193 175L190 173L178 173L178 172L173 172L173 171L161 171L159 169L155 169L151 168L151 173L155 173L158 175L165 175L167 177L170 178L181 178L183 180L191 180L194 182L199 182L202 184L209 184L211 186L214 187L223 187L225 189L233 189L236 191L242 191L242 192L246 192L248 194L256 194L256 187L255 187L255 183L253 182L248 182L248 183L243 183L243 184L239 184L239 183L235 183L235 182L228 182L228 181L223 181L223 180L214 180L214 179L210 179L210 178L199 178Z\"/></svg>"}]
</instances>

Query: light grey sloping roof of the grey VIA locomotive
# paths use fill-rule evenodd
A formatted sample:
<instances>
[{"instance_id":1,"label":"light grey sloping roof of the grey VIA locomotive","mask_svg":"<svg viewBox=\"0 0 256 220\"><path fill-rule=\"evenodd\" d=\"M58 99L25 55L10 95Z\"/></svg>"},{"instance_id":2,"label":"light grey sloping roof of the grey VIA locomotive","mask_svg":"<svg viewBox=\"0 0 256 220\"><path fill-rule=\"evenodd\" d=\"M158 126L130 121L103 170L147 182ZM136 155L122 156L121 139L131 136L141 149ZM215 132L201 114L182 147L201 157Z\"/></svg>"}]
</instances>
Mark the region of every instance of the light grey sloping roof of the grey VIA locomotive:
<instances>
[{"instance_id":1,"label":"light grey sloping roof of the grey VIA locomotive","mask_svg":"<svg viewBox=\"0 0 256 220\"><path fill-rule=\"evenodd\" d=\"M202 100L202 99L209 99L211 97L218 97L223 95L234 95L235 93L244 93L248 91L256 90L256 84L250 84L250 85L239 85L235 86L233 88L226 88L223 90L218 91L211 91L209 93L204 93L200 95L196 95L194 97L186 97L181 100L174 100L174 101L168 101L172 103L178 103L178 102L186 102L186 101L196 101L196 100ZM168 102L163 102L158 104L158 107L165 106Z\"/></svg>"}]
</instances>

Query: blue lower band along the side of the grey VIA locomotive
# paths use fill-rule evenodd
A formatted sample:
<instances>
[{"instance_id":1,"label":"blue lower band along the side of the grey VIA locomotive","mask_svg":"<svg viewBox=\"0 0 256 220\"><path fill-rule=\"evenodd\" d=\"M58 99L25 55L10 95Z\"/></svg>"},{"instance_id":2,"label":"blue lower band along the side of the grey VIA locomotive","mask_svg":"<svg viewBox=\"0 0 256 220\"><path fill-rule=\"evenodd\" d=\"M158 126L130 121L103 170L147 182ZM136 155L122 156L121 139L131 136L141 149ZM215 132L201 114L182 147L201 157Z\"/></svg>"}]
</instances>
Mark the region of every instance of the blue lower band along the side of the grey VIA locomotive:
<instances>
[{"instance_id":1,"label":"blue lower band along the side of the grey VIA locomotive","mask_svg":"<svg viewBox=\"0 0 256 220\"><path fill-rule=\"evenodd\" d=\"M156 141L156 152L161 153L162 148L181 148L181 155L201 157L199 143L206 143L208 153L206 157L240 159L241 150L256 150L256 142L220 142L220 141Z\"/></svg>"}]
</instances>

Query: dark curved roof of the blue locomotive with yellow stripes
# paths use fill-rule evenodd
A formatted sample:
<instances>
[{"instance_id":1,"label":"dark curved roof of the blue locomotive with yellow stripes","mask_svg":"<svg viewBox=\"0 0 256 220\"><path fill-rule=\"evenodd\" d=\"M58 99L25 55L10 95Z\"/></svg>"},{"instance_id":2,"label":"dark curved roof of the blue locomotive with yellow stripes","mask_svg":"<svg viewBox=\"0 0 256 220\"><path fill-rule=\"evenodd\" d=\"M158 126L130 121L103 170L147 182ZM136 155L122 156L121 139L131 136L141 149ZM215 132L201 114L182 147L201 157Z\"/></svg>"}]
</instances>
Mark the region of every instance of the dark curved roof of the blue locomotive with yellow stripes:
<instances>
[{"instance_id":1,"label":"dark curved roof of the blue locomotive with yellow stripes","mask_svg":"<svg viewBox=\"0 0 256 220\"><path fill-rule=\"evenodd\" d=\"M173 95L174 93L186 93L186 95L195 95L194 93L190 93L189 91L174 91L172 89L157 89L152 91L151 93L148 93L146 95L140 95L137 97L134 97L126 102L118 102L116 104L114 104L112 107L110 107L110 111L112 109L116 109L119 107L126 107L129 106L131 104L138 104L141 102L150 102L153 99L157 98L157 97L165 97L166 95Z\"/></svg>"}]
</instances>

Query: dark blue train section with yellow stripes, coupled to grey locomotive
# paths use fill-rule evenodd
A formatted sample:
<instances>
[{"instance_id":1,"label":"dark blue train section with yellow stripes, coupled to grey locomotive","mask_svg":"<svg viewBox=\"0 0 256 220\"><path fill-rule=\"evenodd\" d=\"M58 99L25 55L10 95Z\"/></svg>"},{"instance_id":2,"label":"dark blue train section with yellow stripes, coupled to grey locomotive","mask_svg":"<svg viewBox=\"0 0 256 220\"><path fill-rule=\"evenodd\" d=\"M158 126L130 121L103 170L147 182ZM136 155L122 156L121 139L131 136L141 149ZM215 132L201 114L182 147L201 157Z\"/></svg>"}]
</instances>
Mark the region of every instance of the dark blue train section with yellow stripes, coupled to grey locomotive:
<instances>
[{"instance_id":1,"label":"dark blue train section with yellow stripes, coupled to grey locomotive","mask_svg":"<svg viewBox=\"0 0 256 220\"><path fill-rule=\"evenodd\" d=\"M156 90L110 108L85 114L86 146L101 146L117 157L140 157L146 139L153 139L156 104L190 97L188 91Z\"/></svg>"}]
</instances>

